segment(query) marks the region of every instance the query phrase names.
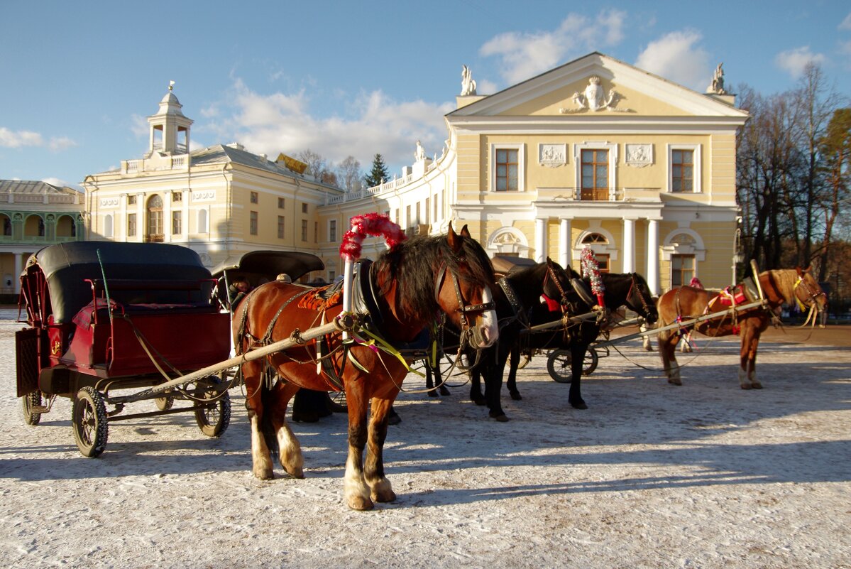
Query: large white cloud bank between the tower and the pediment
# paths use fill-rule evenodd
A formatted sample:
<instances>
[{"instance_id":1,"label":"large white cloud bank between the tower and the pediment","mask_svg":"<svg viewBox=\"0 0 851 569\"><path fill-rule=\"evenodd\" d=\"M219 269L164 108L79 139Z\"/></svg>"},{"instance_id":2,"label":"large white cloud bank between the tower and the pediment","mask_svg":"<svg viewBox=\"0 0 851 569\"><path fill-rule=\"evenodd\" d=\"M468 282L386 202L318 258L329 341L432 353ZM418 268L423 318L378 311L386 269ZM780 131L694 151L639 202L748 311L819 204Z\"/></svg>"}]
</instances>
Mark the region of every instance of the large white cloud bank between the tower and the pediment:
<instances>
[{"instance_id":1,"label":"large white cloud bank between the tower and the pediment","mask_svg":"<svg viewBox=\"0 0 851 569\"><path fill-rule=\"evenodd\" d=\"M363 170L368 170L374 154L380 153L393 169L391 175L400 174L397 167L413 164L417 139L427 155L443 152L447 138L443 115L454 110L448 102L393 101L383 92L373 91L351 102L347 109L351 118L317 118L311 115L306 91L261 95L241 79L234 91L230 116L222 108L218 122L203 126L221 142L238 141L250 152L269 156L278 152L295 155L310 148L332 164L351 155Z\"/></svg>"}]
</instances>

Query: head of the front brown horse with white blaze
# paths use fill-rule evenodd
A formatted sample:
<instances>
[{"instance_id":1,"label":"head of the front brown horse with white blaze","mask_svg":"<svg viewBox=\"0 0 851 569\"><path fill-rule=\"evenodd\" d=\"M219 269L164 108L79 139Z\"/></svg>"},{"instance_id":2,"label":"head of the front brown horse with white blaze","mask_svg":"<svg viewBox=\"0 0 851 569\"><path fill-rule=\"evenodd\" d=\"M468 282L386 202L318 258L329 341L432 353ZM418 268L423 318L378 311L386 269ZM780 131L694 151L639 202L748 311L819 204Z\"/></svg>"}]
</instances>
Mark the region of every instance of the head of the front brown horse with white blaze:
<instances>
[{"instance_id":1,"label":"head of the front brown horse with white blaze","mask_svg":"<svg viewBox=\"0 0 851 569\"><path fill-rule=\"evenodd\" d=\"M461 330L462 345L488 348L500 335L491 291L494 267L467 226L455 233L450 221L445 240L448 250L442 258L435 298L449 321Z\"/></svg>"}]
</instances>

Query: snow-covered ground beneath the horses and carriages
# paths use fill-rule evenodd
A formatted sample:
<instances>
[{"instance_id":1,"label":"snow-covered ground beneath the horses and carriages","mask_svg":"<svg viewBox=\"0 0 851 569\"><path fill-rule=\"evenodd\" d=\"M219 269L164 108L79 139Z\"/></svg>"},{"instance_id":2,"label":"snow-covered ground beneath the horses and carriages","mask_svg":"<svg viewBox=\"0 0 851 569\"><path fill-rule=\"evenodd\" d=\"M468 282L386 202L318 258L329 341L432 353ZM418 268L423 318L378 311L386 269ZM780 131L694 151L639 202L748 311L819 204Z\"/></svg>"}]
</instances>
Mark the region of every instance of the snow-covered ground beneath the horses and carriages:
<instances>
[{"instance_id":1,"label":"snow-covered ground beneath the horses and carriages","mask_svg":"<svg viewBox=\"0 0 851 569\"><path fill-rule=\"evenodd\" d=\"M700 338L681 388L622 344L585 379L587 411L544 356L520 373L523 401L504 397L511 422L467 386L402 394L398 499L364 513L341 499L345 415L294 423L306 479L265 482L238 389L219 440L191 415L114 422L83 458L68 399L26 426L14 314L0 311L3 566L851 567L851 330L773 330L761 391L738 387L735 339Z\"/></svg>"}]
</instances>

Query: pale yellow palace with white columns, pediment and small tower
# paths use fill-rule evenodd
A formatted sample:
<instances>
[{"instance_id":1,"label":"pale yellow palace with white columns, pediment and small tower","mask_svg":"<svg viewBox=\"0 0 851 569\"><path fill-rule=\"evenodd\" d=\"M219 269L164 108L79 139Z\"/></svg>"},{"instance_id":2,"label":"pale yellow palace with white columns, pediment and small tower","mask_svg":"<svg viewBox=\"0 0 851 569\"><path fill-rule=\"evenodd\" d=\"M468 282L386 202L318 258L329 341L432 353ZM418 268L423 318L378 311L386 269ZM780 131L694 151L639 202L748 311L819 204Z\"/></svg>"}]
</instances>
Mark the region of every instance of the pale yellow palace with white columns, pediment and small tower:
<instances>
[{"instance_id":1,"label":"pale yellow palace with white columns, pediment and small tower","mask_svg":"<svg viewBox=\"0 0 851 569\"><path fill-rule=\"evenodd\" d=\"M331 280L349 218L380 211L412 234L467 225L491 256L578 269L591 247L603 270L642 273L655 292L694 276L719 287L733 274L735 135L748 115L721 66L707 83L698 93L592 53L478 95L464 67L443 148L429 158L418 141L401 176L356 193L283 155L187 152L191 120L169 91L148 118L146 157L86 179L89 234L186 244L211 264L238 250L306 250L326 264L310 278Z\"/></svg>"}]
</instances>

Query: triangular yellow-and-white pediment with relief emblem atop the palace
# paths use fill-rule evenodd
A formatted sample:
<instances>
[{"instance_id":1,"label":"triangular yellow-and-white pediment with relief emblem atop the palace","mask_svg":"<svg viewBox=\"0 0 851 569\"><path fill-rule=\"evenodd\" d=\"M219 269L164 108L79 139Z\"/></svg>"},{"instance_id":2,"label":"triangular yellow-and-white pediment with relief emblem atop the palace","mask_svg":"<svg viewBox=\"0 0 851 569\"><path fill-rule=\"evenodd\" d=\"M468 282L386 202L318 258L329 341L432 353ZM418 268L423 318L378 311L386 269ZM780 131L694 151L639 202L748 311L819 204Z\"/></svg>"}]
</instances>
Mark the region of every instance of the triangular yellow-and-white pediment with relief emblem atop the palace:
<instances>
[{"instance_id":1,"label":"triangular yellow-and-white pediment with relief emblem atop the palace","mask_svg":"<svg viewBox=\"0 0 851 569\"><path fill-rule=\"evenodd\" d=\"M448 114L461 117L728 117L747 113L593 53Z\"/></svg>"}]
</instances>

